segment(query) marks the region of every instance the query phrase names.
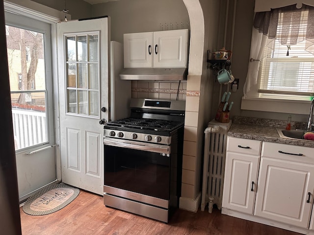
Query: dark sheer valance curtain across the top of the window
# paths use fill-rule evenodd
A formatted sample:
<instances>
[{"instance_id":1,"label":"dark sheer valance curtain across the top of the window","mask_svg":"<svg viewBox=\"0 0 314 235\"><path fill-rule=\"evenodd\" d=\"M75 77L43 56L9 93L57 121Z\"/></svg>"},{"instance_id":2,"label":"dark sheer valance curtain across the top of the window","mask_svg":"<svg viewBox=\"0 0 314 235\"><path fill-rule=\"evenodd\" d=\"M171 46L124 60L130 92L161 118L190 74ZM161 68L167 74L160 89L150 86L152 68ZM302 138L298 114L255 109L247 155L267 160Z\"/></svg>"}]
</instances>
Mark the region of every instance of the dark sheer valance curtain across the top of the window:
<instances>
[{"instance_id":1,"label":"dark sheer valance curtain across the top of the window","mask_svg":"<svg viewBox=\"0 0 314 235\"><path fill-rule=\"evenodd\" d=\"M269 39L279 40L282 45L295 45L307 40L307 49L314 43L314 7L303 4L298 9L296 5L290 5L271 11L257 12L253 26ZM314 52L313 49L307 50Z\"/></svg>"}]
</instances>

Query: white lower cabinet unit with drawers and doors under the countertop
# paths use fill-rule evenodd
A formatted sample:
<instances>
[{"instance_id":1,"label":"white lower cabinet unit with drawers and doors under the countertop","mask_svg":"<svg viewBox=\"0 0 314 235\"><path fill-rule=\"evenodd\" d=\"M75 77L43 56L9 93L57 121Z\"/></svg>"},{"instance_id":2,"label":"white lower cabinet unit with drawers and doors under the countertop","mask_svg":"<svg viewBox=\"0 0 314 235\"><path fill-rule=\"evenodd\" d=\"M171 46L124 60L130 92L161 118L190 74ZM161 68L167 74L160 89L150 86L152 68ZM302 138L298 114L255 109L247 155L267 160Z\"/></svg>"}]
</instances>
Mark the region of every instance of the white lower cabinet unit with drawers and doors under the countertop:
<instances>
[{"instance_id":1,"label":"white lower cabinet unit with drawers and doors under the countertop","mask_svg":"<svg viewBox=\"0 0 314 235\"><path fill-rule=\"evenodd\" d=\"M313 148L228 137L225 167L223 213L314 234Z\"/></svg>"}]
</instances>

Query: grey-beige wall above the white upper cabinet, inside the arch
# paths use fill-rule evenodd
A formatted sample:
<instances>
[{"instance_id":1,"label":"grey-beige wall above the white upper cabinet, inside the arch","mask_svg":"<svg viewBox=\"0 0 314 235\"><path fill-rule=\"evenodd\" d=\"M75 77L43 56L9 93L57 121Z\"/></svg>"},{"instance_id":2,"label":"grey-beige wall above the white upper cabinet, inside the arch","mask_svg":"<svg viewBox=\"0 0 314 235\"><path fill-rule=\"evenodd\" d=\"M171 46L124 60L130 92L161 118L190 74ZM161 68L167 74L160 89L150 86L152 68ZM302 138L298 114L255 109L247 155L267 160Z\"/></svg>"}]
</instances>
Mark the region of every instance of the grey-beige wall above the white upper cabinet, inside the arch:
<instances>
[{"instance_id":1,"label":"grey-beige wall above the white upper cabinet, inside the arch","mask_svg":"<svg viewBox=\"0 0 314 235\"><path fill-rule=\"evenodd\" d=\"M123 43L124 33L188 28L189 17L183 0L119 0L92 5L92 15L110 16L111 40ZM183 23L183 26L182 24Z\"/></svg>"}]
</instances>

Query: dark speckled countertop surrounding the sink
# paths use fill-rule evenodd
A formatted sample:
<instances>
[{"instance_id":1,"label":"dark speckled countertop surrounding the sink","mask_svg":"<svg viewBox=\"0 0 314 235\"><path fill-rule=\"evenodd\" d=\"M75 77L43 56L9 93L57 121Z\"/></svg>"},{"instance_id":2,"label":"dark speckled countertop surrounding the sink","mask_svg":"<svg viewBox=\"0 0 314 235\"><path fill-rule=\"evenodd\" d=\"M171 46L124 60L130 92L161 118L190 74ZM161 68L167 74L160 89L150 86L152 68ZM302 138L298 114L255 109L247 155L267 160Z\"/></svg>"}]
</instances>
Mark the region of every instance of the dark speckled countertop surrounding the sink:
<instances>
[{"instance_id":1,"label":"dark speckled countertop surrounding the sink","mask_svg":"<svg viewBox=\"0 0 314 235\"><path fill-rule=\"evenodd\" d=\"M283 120L234 117L232 125L228 131L228 136L314 148L314 141L281 138L276 127L285 128L286 125L287 121ZM304 126L305 123L291 121L291 129L303 129Z\"/></svg>"}]
</instances>

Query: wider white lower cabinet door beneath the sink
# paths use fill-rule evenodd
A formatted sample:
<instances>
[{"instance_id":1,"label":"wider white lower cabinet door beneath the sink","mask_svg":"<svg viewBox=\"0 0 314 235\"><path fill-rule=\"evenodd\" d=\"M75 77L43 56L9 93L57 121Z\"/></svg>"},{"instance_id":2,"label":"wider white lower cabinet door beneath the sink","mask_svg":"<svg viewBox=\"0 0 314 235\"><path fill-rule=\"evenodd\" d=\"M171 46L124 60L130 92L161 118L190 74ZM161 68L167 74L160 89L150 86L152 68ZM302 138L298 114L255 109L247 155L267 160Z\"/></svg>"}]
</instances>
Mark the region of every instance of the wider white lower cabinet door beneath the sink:
<instances>
[{"instance_id":1,"label":"wider white lower cabinet door beneath the sink","mask_svg":"<svg viewBox=\"0 0 314 235\"><path fill-rule=\"evenodd\" d=\"M254 214L308 228L313 191L314 165L262 158Z\"/></svg>"}]
</instances>

